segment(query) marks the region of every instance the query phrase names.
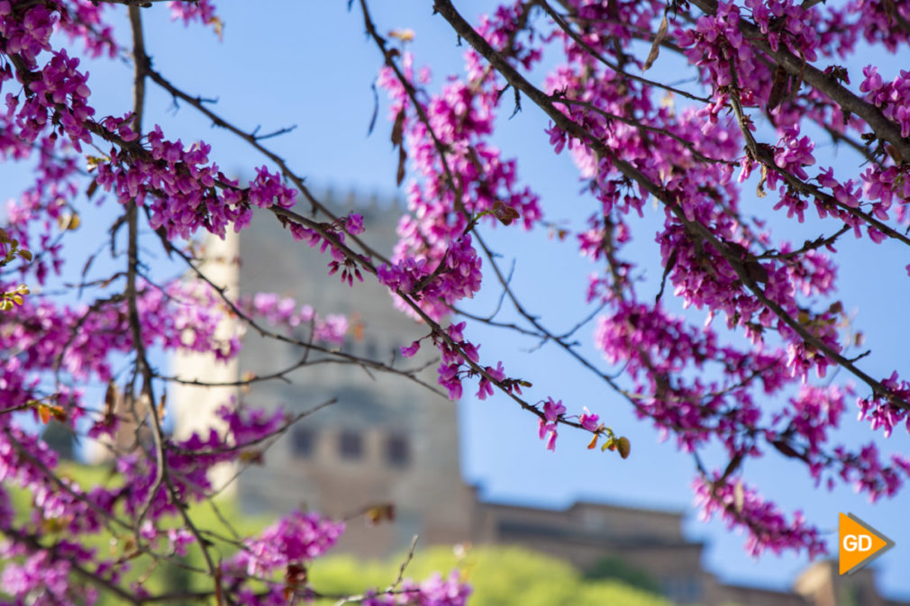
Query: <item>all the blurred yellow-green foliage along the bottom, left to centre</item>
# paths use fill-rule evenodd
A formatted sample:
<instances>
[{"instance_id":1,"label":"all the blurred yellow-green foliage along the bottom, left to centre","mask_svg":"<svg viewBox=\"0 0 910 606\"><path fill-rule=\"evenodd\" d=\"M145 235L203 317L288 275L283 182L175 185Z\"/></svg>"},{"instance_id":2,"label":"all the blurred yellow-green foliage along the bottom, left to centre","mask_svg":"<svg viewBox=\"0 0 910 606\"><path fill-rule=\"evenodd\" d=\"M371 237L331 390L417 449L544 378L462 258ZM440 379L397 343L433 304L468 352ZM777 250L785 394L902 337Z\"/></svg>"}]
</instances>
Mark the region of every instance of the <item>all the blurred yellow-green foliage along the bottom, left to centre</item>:
<instances>
[{"instance_id":1,"label":"all the blurred yellow-green foliage along the bottom, left to centre","mask_svg":"<svg viewBox=\"0 0 910 606\"><path fill-rule=\"evenodd\" d=\"M63 475L83 486L116 486L122 480L104 467L86 467L66 463ZM15 509L27 523L26 511L31 510L31 495L24 490L11 490ZM216 501L217 511L208 504L193 506L189 514L199 530L212 540L215 556L229 557L236 552L236 542L257 534L266 520L240 514L233 500ZM219 515L220 514L220 515ZM229 520L236 535L225 527ZM173 520L179 525L179 520ZM211 534L209 534L211 532ZM220 537L220 538L219 538ZM132 560L130 581L142 580L153 592L207 591L210 581L206 574L193 574L205 567L199 550L192 546L185 558L151 561L135 554L134 539L127 532L99 535L93 547L109 550L112 557ZM233 543L233 544L232 544ZM387 561L359 561L351 556L331 556L315 561L308 571L311 586L323 595L360 593L369 589L385 589L399 576L402 554ZM607 561L605 561L607 562ZM408 563L405 578L426 579L435 572L449 574L457 571L473 587L471 606L670 606L652 588L633 574L622 562L609 561L603 577L586 578L565 561L517 547L478 547L456 554L451 548L418 549ZM623 567L624 566L624 567ZM600 570L600 569L599 569ZM99 606L119 604L115 597L102 591ZM177 603L180 603L177 601ZM204 603L204 602L195 602ZM335 600L322 601L325 604Z\"/></svg>"}]
</instances>

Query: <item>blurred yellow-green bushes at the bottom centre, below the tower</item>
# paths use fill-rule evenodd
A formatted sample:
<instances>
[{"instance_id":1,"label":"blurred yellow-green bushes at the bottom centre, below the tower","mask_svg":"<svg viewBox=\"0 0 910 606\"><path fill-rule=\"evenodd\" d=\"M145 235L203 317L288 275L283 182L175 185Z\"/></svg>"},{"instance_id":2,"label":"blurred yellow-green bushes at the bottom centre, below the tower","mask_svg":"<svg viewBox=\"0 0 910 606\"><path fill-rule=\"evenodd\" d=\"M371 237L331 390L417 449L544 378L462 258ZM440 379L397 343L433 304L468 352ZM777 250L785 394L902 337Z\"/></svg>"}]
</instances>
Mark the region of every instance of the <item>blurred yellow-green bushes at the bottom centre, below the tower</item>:
<instances>
[{"instance_id":1,"label":"blurred yellow-green bushes at the bottom centre, below the tower","mask_svg":"<svg viewBox=\"0 0 910 606\"><path fill-rule=\"evenodd\" d=\"M387 562L330 557L314 562L309 574L324 593L385 588L398 577L404 556ZM418 550L406 577L457 570L473 587L472 606L669 606L669 602L618 580L589 580L570 564L516 547L479 547L462 557L443 547Z\"/></svg>"}]
</instances>

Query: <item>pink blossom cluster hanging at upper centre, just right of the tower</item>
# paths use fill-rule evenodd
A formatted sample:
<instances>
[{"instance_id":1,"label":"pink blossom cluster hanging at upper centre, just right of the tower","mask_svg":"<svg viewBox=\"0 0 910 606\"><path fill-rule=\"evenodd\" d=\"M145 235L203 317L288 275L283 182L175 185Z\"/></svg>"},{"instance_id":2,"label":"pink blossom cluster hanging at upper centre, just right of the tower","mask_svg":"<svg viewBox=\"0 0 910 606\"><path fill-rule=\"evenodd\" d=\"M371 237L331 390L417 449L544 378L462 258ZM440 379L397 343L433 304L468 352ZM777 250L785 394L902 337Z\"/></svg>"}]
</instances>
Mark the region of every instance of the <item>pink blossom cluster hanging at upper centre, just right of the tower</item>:
<instances>
[{"instance_id":1,"label":"pink blossom cluster hanging at upper centre, just right of the tower","mask_svg":"<svg viewBox=\"0 0 910 606\"><path fill-rule=\"evenodd\" d=\"M513 58L531 67L541 53L521 40L516 25L523 10L521 2L500 6L481 20L479 31L499 48L511 42ZM516 161L503 159L489 141L501 106L495 71L474 50L465 53L465 69L465 81L450 82L426 101L414 91L430 84L430 70L421 68L415 75L410 51L403 54L402 77L389 66L379 73L379 85L391 100L389 116L400 125L399 146L418 177L407 187L410 213L401 217L392 264L379 267L379 281L393 293L409 296L434 320L480 290L482 258L470 235L480 220L490 225L521 222L525 228L541 220L539 198L529 187L520 187ZM392 137L394 143L396 133ZM418 316L401 298L395 302ZM450 398L460 398L461 379L479 374L464 364L465 357L478 361L476 349L468 343L469 349L451 351L444 339L437 344L443 355L440 384ZM487 367L489 377L506 379L501 366ZM491 386L490 378L480 375L481 398L490 395Z\"/></svg>"}]
</instances>

